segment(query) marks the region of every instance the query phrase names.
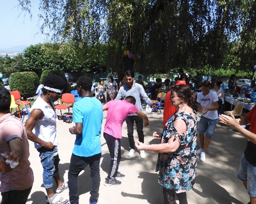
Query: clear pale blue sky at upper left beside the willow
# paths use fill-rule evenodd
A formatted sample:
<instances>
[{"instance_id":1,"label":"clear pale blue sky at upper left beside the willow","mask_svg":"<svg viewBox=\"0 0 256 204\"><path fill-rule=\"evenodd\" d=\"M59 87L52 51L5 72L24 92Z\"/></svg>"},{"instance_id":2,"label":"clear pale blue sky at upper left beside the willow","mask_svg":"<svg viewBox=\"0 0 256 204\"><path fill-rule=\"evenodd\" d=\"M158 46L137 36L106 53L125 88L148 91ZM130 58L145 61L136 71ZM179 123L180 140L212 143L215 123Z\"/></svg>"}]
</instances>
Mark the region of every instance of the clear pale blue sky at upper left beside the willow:
<instances>
[{"instance_id":1,"label":"clear pale blue sky at upper left beside the willow","mask_svg":"<svg viewBox=\"0 0 256 204\"><path fill-rule=\"evenodd\" d=\"M0 0L0 50L20 45L44 43L38 23L38 0L31 3L32 18L19 7L18 0Z\"/></svg>"}]
</instances>

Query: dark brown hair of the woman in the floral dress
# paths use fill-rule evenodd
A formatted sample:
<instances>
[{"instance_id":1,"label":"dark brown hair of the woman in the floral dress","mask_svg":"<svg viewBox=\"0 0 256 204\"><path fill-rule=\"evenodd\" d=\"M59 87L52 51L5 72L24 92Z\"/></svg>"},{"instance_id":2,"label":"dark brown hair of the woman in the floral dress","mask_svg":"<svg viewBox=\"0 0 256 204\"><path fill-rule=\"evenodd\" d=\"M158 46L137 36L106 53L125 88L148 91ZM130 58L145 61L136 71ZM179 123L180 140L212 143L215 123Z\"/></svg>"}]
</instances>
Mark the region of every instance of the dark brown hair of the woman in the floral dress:
<instances>
[{"instance_id":1,"label":"dark brown hair of the woman in the floral dress","mask_svg":"<svg viewBox=\"0 0 256 204\"><path fill-rule=\"evenodd\" d=\"M172 92L175 92L178 97L182 98L184 102L191 108L195 105L196 94L191 91L191 88L186 85L177 85L172 88Z\"/></svg>"}]
</instances>

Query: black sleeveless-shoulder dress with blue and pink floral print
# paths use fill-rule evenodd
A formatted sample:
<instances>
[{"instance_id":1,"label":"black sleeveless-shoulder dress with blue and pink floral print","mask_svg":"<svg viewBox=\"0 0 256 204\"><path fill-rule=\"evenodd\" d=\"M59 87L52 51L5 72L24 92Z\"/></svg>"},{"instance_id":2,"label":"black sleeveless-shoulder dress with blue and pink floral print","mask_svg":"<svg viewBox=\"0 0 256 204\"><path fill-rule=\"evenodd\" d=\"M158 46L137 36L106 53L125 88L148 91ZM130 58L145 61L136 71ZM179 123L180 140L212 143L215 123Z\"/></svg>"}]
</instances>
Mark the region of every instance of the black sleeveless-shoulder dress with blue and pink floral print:
<instances>
[{"instance_id":1,"label":"black sleeveless-shoulder dress with blue and pink floral print","mask_svg":"<svg viewBox=\"0 0 256 204\"><path fill-rule=\"evenodd\" d=\"M179 137L180 146L175 152L159 153L156 172L159 171L158 183L167 189L174 189L176 193L191 190L196 176L196 136L197 117L193 112L174 113L166 122L160 143L168 143L172 137ZM179 134L173 123L177 119L186 122L187 130Z\"/></svg>"}]
</instances>

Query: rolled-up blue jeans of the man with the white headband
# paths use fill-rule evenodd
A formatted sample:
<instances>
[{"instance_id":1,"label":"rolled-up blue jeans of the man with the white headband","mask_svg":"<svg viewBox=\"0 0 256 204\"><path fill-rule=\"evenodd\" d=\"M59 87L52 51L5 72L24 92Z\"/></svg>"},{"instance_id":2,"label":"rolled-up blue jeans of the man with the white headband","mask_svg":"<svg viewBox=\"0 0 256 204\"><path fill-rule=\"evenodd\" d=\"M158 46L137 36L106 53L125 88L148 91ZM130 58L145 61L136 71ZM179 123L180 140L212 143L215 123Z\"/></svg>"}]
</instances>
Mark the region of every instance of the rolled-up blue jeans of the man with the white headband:
<instances>
[{"instance_id":1,"label":"rolled-up blue jeans of the man with the white headband","mask_svg":"<svg viewBox=\"0 0 256 204\"><path fill-rule=\"evenodd\" d=\"M42 148L38 149L39 152L40 149ZM43 167L43 185L46 189L52 188L53 177L59 174L60 158L58 149L56 147L53 151L42 151L39 157Z\"/></svg>"}]
</instances>

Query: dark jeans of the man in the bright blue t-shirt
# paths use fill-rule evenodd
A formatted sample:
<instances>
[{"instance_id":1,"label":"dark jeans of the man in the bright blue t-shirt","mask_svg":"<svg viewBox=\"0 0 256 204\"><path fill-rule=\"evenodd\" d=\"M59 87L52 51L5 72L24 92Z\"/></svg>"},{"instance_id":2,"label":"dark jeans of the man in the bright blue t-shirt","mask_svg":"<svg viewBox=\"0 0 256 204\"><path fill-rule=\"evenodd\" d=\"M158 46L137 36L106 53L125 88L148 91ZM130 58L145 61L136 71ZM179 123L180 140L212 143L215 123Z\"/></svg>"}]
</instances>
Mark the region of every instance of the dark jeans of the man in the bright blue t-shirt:
<instances>
[{"instance_id":1,"label":"dark jeans of the man in the bright blue t-shirt","mask_svg":"<svg viewBox=\"0 0 256 204\"><path fill-rule=\"evenodd\" d=\"M70 190L70 203L78 204L78 187L77 187L77 179L79 173L84 170L88 165L91 169L91 177L93 179L92 188L90 191L91 202L95 202L99 197L99 186L100 186L100 172L99 172L99 163L100 163L101 153L95 154L91 157L79 157L74 154L71 155L70 159L70 170L68 173L68 184ZM83 181L84 182L84 181Z\"/></svg>"}]
</instances>

